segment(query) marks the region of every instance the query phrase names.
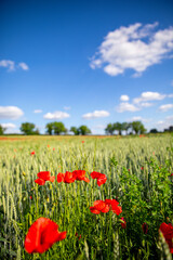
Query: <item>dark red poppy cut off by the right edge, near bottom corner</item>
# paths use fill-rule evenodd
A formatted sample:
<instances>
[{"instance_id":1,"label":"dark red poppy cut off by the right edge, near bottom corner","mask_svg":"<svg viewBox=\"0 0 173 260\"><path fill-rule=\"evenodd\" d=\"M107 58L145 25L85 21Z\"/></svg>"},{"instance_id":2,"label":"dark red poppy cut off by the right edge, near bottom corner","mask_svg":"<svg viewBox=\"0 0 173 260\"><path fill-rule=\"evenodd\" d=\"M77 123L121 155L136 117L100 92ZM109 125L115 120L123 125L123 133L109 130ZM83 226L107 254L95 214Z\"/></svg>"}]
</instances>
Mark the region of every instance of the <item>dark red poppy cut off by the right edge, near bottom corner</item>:
<instances>
[{"instance_id":1,"label":"dark red poppy cut off by the right edge, near bottom corner","mask_svg":"<svg viewBox=\"0 0 173 260\"><path fill-rule=\"evenodd\" d=\"M165 242L169 244L170 252L173 253L173 226L171 223L162 223L159 227L159 231L162 232Z\"/></svg>"}]
</instances>

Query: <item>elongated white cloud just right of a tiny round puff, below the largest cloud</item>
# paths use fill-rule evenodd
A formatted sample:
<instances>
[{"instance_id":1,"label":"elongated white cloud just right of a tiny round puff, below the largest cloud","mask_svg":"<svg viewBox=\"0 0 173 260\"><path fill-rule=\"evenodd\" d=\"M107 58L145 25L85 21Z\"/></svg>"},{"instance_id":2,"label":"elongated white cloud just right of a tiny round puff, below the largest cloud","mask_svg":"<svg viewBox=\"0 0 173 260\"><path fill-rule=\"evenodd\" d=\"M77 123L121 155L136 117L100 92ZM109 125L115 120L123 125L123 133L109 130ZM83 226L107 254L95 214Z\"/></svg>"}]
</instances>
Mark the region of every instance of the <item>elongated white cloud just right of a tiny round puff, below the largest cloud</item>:
<instances>
[{"instance_id":1,"label":"elongated white cloud just right of a tiny round puff, below the largest cloud","mask_svg":"<svg viewBox=\"0 0 173 260\"><path fill-rule=\"evenodd\" d=\"M133 102L137 104L145 101L163 100L165 96L167 96L165 94L147 91L143 92L139 98L134 99Z\"/></svg>"}]
</instances>

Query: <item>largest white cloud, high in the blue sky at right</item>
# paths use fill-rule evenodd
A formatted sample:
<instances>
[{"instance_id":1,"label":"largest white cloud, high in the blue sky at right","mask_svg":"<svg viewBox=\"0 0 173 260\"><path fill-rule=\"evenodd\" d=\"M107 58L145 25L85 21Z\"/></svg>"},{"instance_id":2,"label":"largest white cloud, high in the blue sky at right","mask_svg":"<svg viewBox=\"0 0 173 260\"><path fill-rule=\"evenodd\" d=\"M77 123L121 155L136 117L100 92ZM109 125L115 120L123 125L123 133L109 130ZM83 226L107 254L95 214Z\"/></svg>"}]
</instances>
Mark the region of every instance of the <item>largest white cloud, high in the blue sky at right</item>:
<instances>
[{"instance_id":1,"label":"largest white cloud, high in the blue sky at right","mask_svg":"<svg viewBox=\"0 0 173 260\"><path fill-rule=\"evenodd\" d=\"M173 27L156 31L156 26L158 23L136 23L108 32L91 58L91 67L103 67L110 76L131 68L134 77L141 76L147 67L169 57L173 50Z\"/></svg>"}]
</instances>

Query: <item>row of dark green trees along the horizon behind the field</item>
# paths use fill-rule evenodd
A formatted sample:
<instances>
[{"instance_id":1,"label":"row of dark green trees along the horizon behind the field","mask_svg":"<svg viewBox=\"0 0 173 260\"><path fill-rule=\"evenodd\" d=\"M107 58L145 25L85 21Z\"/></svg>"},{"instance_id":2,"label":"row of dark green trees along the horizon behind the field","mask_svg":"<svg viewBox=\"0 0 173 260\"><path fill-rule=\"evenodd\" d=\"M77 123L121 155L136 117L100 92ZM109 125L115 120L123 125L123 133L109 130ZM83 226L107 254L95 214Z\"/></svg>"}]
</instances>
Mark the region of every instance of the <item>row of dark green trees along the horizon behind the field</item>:
<instances>
[{"instance_id":1,"label":"row of dark green trees along the horizon behind the field","mask_svg":"<svg viewBox=\"0 0 173 260\"><path fill-rule=\"evenodd\" d=\"M0 135L4 134L5 128L0 125ZM36 128L32 122L23 122L19 128L21 132L26 135L40 134L39 129ZM61 121L49 122L45 125L46 134L67 134L68 129ZM86 126L71 127L70 132L75 135L86 135L92 133ZM125 131L125 134L144 134L147 132L142 121L132 121L132 122L114 122L108 123L105 128L106 134L122 134L122 131ZM158 133L157 129L151 129L150 133ZM169 129L164 129L164 132L173 132L173 126Z\"/></svg>"}]
</instances>

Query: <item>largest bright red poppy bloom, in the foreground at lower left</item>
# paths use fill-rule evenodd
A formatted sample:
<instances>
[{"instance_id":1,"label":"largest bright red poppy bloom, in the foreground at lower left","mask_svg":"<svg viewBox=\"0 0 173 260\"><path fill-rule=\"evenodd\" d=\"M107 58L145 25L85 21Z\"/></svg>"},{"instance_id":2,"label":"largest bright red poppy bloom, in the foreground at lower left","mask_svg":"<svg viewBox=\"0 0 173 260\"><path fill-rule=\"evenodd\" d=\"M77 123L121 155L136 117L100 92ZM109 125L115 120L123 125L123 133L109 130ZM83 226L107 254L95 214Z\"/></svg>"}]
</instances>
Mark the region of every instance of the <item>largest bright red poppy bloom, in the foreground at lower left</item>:
<instances>
[{"instance_id":1,"label":"largest bright red poppy bloom, in the foreground at lower left","mask_svg":"<svg viewBox=\"0 0 173 260\"><path fill-rule=\"evenodd\" d=\"M29 227L25 237L25 250L28 253L46 251L54 243L66 238L66 231L58 232L58 225L50 219L39 218Z\"/></svg>"}]
</instances>

